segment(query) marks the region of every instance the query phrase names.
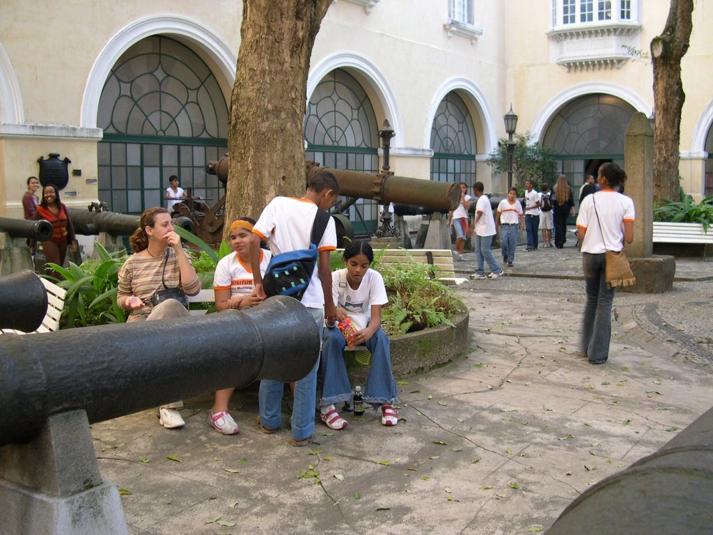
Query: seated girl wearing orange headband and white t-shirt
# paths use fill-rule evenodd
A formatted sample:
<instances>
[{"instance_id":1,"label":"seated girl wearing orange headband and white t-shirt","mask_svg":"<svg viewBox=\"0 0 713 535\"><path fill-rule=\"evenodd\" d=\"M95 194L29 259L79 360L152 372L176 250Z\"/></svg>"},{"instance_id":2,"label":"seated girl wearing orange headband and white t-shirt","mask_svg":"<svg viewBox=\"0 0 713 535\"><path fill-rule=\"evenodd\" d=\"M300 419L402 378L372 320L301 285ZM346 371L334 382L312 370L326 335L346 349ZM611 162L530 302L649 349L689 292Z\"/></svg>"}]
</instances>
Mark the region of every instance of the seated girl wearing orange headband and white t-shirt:
<instances>
[{"instance_id":1,"label":"seated girl wearing orange headband and white t-shirt","mask_svg":"<svg viewBox=\"0 0 713 535\"><path fill-rule=\"evenodd\" d=\"M254 307L260 300L255 297L252 289L252 270L250 269L250 236L255 220L240 218L230 225L230 248L234 251L220 259L215 267L213 290L215 291L215 308L220 312L229 308L240 310ZM260 273L265 275L267 264L272 253L260 249ZM208 413L212 427L222 434L238 434L240 428L228 412L227 404L235 388L226 388L215 392L215 402Z\"/></svg>"}]
</instances>

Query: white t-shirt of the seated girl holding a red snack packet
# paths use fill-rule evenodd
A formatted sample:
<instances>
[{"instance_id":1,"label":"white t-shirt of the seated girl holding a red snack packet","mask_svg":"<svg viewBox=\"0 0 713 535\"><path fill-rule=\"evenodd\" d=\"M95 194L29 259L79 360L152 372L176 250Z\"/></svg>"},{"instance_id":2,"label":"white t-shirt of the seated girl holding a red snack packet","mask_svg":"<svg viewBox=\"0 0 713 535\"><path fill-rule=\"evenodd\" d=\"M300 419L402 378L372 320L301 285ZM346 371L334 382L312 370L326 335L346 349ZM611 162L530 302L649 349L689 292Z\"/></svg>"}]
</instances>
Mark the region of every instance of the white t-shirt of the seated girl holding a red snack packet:
<instances>
[{"instance_id":1,"label":"white t-shirt of the seated girl holding a red snack packet","mask_svg":"<svg viewBox=\"0 0 713 535\"><path fill-rule=\"evenodd\" d=\"M381 273L366 270L361 277L361 284L352 290L347 282L347 268L332 272L332 297L338 307L344 308L352 318L354 327L364 329L371 320L371 305L386 305L386 286Z\"/></svg>"}]
</instances>

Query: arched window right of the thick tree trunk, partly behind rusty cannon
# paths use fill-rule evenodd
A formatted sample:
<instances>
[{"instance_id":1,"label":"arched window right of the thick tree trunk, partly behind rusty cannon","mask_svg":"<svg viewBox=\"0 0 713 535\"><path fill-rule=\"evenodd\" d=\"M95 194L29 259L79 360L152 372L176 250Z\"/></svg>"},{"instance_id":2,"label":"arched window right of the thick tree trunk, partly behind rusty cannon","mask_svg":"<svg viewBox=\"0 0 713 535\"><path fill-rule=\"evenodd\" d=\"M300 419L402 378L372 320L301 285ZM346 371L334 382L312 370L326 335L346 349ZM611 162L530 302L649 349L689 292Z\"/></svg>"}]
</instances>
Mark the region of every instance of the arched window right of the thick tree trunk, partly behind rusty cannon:
<instances>
[{"instance_id":1,"label":"arched window right of the thick tree trunk, partly behind rusty cannon","mask_svg":"<svg viewBox=\"0 0 713 535\"><path fill-rule=\"evenodd\" d=\"M356 78L335 69L314 88L304 118L307 160L335 169L377 173L379 129L369 96ZM378 223L378 205L360 199L350 210L356 234L372 233Z\"/></svg>"}]
</instances>

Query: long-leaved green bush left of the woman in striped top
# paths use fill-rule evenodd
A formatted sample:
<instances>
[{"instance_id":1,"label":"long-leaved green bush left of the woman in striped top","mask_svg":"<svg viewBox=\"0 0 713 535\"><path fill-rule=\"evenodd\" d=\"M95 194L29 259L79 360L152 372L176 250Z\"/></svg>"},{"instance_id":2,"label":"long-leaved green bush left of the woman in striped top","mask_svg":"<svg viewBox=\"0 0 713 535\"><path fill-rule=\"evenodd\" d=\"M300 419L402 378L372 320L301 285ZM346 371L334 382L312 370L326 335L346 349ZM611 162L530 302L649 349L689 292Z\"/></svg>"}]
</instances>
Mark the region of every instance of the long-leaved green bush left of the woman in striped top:
<instances>
[{"instance_id":1,"label":"long-leaved green bush left of the woman in striped top","mask_svg":"<svg viewBox=\"0 0 713 535\"><path fill-rule=\"evenodd\" d=\"M65 279L57 282L67 290L61 328L123 323L126 319L127 312L116 304L118 272L126 256L110 254L98 242L95 246L99 260L89 258L81 265L70 262L67 269L47 264Z\"/></svg>"}]
</instances>

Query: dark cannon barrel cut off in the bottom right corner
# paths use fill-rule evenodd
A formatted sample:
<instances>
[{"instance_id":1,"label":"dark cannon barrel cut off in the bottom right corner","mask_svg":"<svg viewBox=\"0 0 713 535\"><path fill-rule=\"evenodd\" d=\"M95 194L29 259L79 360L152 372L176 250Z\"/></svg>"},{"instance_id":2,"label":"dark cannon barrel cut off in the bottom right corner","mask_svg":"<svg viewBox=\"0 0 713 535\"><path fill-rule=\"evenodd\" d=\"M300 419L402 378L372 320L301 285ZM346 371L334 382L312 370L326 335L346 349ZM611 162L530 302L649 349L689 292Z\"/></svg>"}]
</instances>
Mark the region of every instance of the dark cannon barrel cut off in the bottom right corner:
<instances>
[{"instance_id":1,"label":"dark cannon barrel cut off in the bottom right corner","mask_svg":"<svg viewBox=\"0 0 713 535\"><path fill-rule=\"evenodd\" d=\"M713 409L573 501L548 535L704 534L713 526Z\"/></svg>"}]
</instances>

